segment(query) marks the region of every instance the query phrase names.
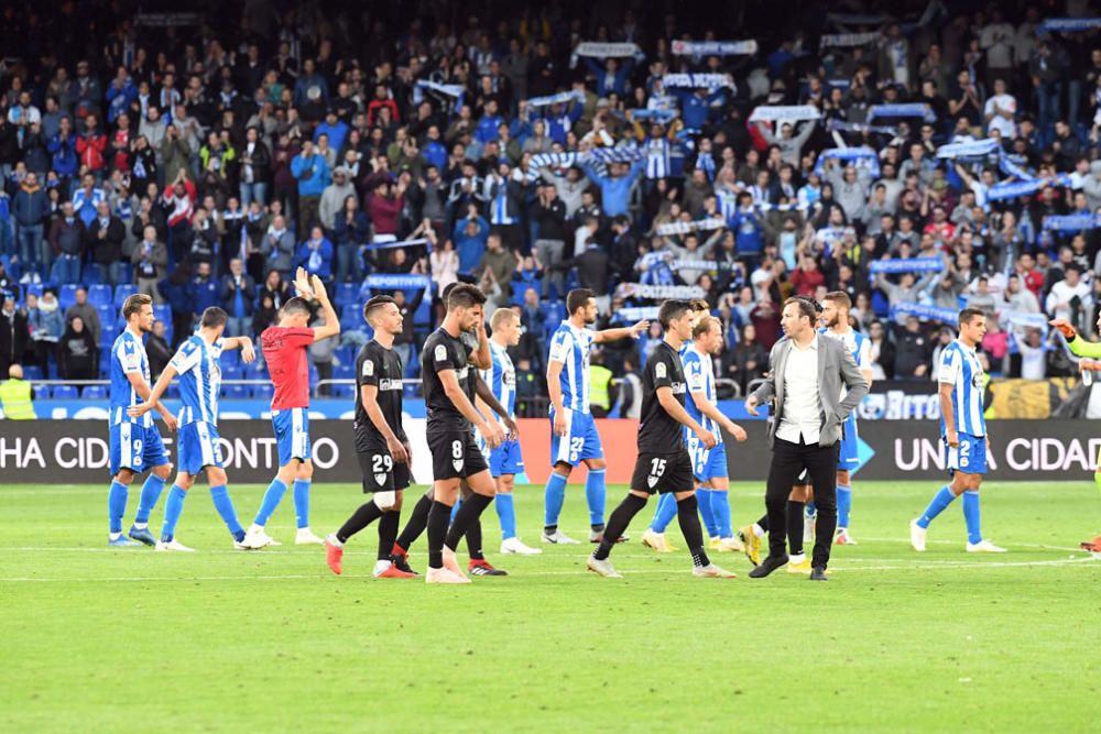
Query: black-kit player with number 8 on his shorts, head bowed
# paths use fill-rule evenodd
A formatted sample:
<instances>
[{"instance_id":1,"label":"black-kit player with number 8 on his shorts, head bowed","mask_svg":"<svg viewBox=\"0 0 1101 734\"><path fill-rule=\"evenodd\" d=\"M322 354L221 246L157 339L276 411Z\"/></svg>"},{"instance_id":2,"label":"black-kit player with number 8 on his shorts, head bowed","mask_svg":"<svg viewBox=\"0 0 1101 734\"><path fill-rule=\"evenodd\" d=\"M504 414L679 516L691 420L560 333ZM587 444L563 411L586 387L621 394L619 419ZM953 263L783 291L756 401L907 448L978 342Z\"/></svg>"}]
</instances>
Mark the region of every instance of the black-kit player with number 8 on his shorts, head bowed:
<instances>
[{"instance_id":1,"label":"black-kit player with number 8 on his shorts, head bowed","mask_svg":"<svg viewBox=\"0 0 1101 734\"><path fill-rule=\"evenodd\" d=\"M486 296L471 285L455 286L444 322L424 342L421 375L428 419L425 438L432 452L433 503L428 513L428 583L469 583L455 560L455 548L495 494L489 467L470 431L471 424L495 448L504 440L500 425L475 408L475 371L460 336L484 321ZM471 494L450 523L451 506L466 480Z\"/></svg>"}]
</instances>

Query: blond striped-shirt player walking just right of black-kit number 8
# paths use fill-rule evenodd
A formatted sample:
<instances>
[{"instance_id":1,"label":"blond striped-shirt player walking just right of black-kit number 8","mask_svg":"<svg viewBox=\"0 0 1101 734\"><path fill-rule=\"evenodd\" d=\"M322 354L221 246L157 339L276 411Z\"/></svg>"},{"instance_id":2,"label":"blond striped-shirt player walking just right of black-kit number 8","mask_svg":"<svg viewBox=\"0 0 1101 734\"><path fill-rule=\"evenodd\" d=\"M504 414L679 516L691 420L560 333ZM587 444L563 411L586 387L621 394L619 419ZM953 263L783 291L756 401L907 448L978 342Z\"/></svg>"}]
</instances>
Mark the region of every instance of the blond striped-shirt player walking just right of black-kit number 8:
<instances>
[{"instance_id":1,"label":"blond striped-shirt player walking just right of black-kit number 8","mask_svg":"<svg viewBox=\"0 0 1101 734\"><path fill-rule=\"evenodd\" d=\"M516 417L516 369L509 357L509 347L520 343L520 314L511 308L499 308L493 311L490 321L493 336L489 340L490 360L492 364L487 370L480 370L482 381L493 393L493 397L505 409L513 419ZM481 398L477 401L477 407L482 415L489 416L491 420L501 424L508 438L495 449L490 449L486 445L481 435L478 435L478 448L489 460L489 473L492 474L497 483L497 516L501 521L501 552L517 554L520 556L536 556L542 554L539 548L532 548L524 545L516 537L516 507L512 499L512 490L515 487L516 474L524 471L524 458L520 453L520 439L510 436L511 431L504 421L494 417L493 410Z\"/></svg>"}]
</instances>

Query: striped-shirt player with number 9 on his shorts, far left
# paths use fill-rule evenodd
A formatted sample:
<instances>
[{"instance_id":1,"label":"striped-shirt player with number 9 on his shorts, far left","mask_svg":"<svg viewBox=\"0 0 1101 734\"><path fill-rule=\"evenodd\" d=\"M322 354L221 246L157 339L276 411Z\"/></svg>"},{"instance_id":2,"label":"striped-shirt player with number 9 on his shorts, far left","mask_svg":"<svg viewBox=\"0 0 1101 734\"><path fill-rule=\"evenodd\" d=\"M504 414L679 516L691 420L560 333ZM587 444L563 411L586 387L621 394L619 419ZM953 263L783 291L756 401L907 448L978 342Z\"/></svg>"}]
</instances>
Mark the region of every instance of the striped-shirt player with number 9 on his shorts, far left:
<instances>
[{"instance_id":1,"label":"striped-shirt player with number 9 on his shorts, far left","mask_svg":"<svg viewBox=\"0 0 1101 734\"><path fill-rule=\"evenodd\" d=\"M164 490L172 464L168 451L161 440L161 431L153 425L153 416L131 417L128 410L150 394L149 358L143 338L153 329L153 299L135 294L122 304L127 328L111 347L110 395L110 469L111 489L107 495L108 545L116 547L137 544L122 536L122 516L127 512L127 496L134 476L150 471L141 487L138 515L130 528L130 537L146 546L156 544L149 532L149 515ZM176 418L167 408L159 412L168 430L176 429Z\"/></svg>"}]
</instances>

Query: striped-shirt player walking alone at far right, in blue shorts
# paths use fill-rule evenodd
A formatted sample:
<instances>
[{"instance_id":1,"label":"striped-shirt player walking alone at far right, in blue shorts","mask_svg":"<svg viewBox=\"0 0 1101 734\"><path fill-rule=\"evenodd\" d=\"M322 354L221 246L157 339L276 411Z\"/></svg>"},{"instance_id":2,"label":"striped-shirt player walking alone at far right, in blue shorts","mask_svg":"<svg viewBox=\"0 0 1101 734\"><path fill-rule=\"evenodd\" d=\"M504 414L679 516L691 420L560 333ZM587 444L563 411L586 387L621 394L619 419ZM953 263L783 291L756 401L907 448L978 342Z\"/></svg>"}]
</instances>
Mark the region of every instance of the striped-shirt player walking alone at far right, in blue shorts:
<instances>
[{"instance_id":1,"label":"striped-shirt player walking alone at far right, in blue shorts","mask_svg":"<svg viewBox=\"0 0 1101 734\"><path fill-rule=\"evenodd\" d=\"M986 419L982 413L985 380L975 347L986 335L986 315L979 308L960 311L960 336L940 353L937 382L940 385L940 435L948 452L951 482L940 487L920 517L909 523L914 550L925 550L925 534L933 518L952 500L963 495L968 552L1005 552L984 540L980 527L979 485L986 473Z\"/></svg>"}]
</instances>

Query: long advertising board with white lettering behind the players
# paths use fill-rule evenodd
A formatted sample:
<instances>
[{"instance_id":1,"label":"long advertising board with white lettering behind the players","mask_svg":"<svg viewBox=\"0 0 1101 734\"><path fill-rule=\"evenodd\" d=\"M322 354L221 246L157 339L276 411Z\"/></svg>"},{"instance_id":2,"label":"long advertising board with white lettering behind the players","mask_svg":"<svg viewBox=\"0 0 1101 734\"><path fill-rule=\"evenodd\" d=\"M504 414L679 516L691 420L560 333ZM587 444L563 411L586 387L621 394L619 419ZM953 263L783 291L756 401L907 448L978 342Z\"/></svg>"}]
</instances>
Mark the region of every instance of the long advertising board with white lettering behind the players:
<instances>
[{"instance_id":1,"label":"long advertising board with white lettering behind the players","mask_svg":"<svg viewBox=\"0 0 1101 734\"><path fill-rule=\"evenodd\" d=\"M749 439L727 437L731 482L762 482L768 473L764 421L744 424ZM1087 480L1097 469L1101 437L1089 420L991 421L990 474L993 480ZM635 461L635 420L597 420L608 462L609 484L630 481ZM219 427L224 461L231 482L265 483L277 464L275 439L266 420L226 420ZM424 419L407 417L405 429L413 447L413 475L417 483L432 478L424 440ZM946 473L944 447L931 421L864 424L859 437L863 464L857 480L940 481ZM359 463L352 456L351 421L310 421L316 481L359 482ZM550 471L550 423L520 420L525 473L519 483L543 484ZM175 436L165 442L175 460ZM98 420L0 421L0 471L4 483L103 483L108 481L108 430ZM582 484L578 468L571 484Z\"/></svg>"}]
</instances>

